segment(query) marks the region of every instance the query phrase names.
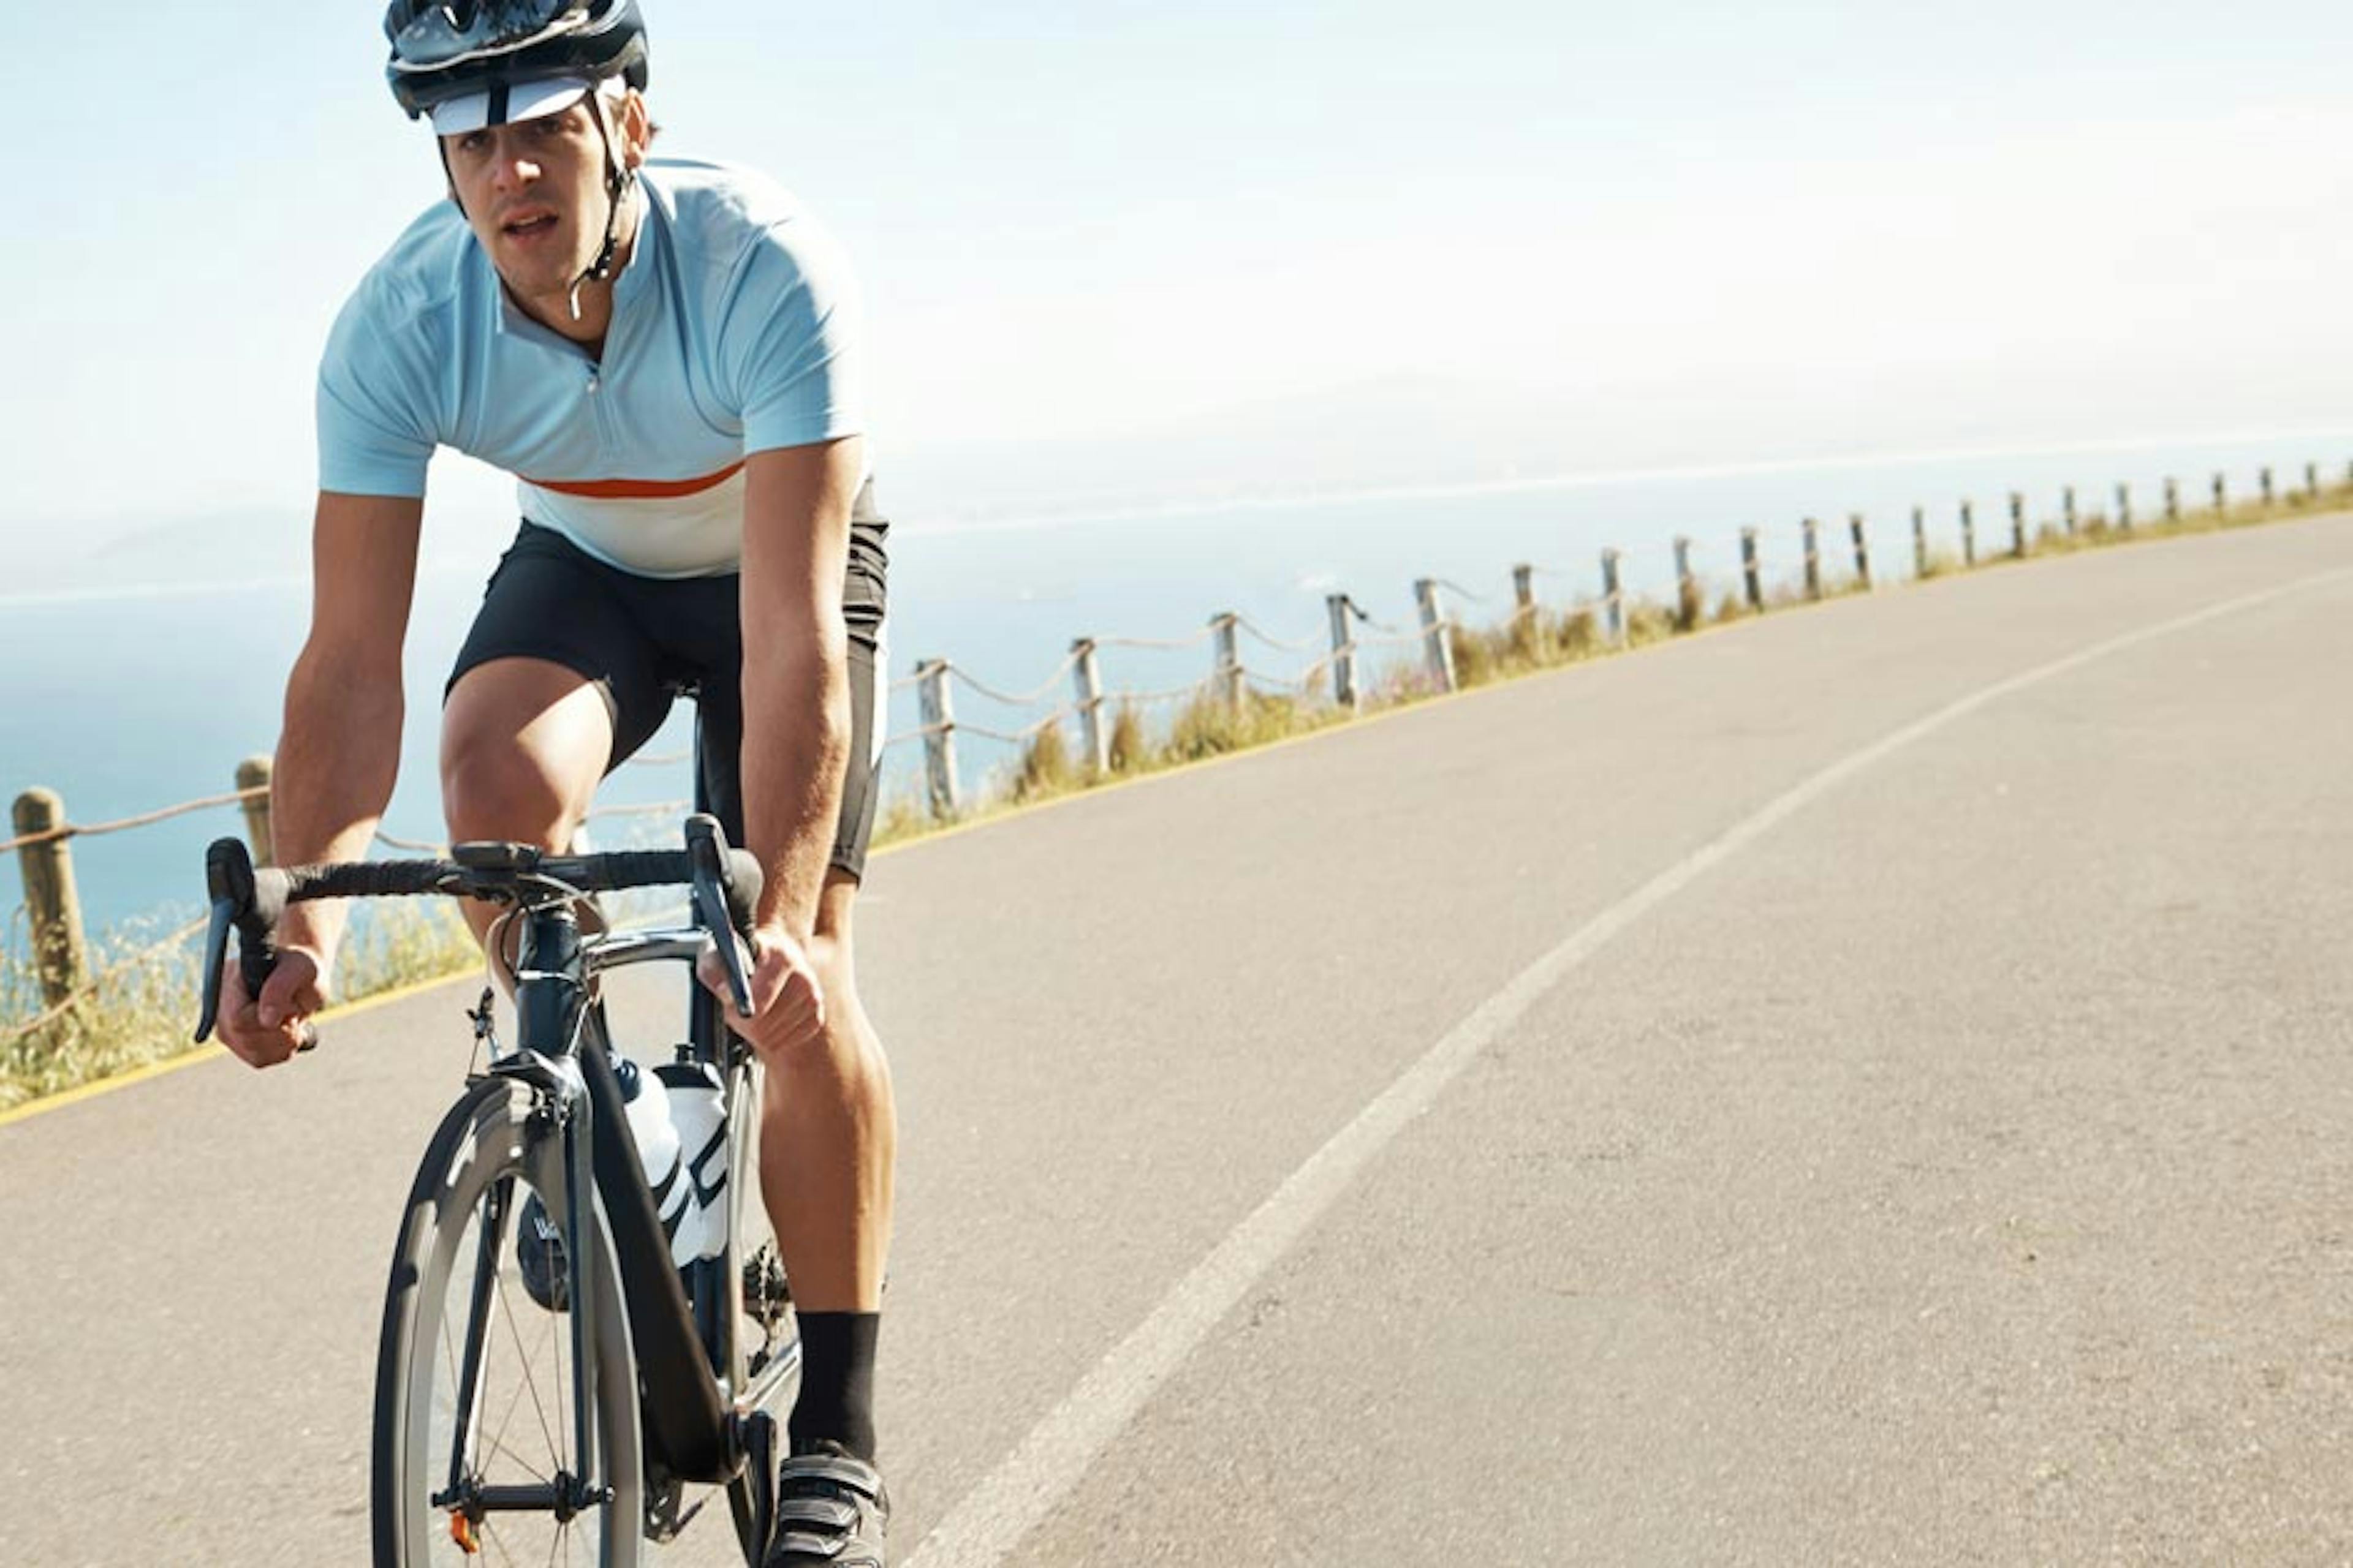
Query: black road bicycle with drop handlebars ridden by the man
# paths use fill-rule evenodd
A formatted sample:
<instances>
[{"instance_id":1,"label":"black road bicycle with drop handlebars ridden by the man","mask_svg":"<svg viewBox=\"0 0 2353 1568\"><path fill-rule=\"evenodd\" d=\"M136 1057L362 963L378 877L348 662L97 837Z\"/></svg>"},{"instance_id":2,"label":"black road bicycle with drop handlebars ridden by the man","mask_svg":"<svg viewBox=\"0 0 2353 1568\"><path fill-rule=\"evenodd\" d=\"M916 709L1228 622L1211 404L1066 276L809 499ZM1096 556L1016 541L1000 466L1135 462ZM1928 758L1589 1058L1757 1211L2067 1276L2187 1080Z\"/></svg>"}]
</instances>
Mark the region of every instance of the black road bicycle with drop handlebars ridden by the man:
<instances>
[{"instance_id":1,"label":"black road bicycle with drop handlebars ridden by the man","mask_svg":"<svg viewBox=\"0 0 2353 1568\"><path fill-rule=\"evenodd\" d=\"M219 1013L228 933L247 994L275 961L285 905L442 893L506 905L515 1037L492 992L468 1013L475 1067L426 1145L400 1218L376 1349L372 1528L379 1568L652 1561L722 1488L744 1559L772 1519L779 1422L800 1340L760 1199L760 1063L689 980L675 1060L722 1095L725 1143L685 1150L678 1180L722 1222L680 1265L628 1128L598 978L711 947L739 1009L736 943L760 863L696 811L685 849L555 856L456 844L447 860L254 870L240 839L205 856L212 896L202 1025ZM595 893L685 884L692 924L586 931ZM591 922L595 924L595 922ZM696 1159L701 1154L701 1159Z\"/></svg>"}]
</instances>

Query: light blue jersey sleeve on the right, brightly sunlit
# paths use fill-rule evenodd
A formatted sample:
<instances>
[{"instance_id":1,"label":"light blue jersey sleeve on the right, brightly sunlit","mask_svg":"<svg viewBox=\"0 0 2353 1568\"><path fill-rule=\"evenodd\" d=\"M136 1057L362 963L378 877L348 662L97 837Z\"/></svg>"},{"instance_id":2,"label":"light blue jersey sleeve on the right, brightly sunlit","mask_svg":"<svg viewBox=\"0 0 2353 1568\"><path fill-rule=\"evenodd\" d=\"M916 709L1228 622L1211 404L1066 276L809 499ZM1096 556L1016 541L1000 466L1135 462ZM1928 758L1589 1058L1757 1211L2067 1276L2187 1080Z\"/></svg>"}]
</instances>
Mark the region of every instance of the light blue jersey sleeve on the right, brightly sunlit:
<instances>
[{"instance_id":1,"label":"light blue jersey sleeve on the right, brightly sunlit","mask_svg":"<svg viewBox=\"0 0 2353 1568\"><path fill-rule=\"evenodd\" d=\"M866 428L859 294L809 219L772 223L729 289L720 355L744 414L744 451L809 447Z\"/></svg>"}]
</instances>

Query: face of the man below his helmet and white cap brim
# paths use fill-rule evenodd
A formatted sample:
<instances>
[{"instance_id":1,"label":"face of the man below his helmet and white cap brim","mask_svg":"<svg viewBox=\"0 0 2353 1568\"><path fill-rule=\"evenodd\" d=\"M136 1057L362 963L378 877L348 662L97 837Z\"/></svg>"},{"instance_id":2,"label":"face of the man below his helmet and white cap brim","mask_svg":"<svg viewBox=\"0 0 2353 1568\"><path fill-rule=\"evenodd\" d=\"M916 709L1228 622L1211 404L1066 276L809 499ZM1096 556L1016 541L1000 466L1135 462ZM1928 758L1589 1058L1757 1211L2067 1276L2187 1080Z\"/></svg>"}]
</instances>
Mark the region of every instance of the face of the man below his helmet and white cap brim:
<instances>
[{"instance_id":1,"label":"face of the man below his helmet and white cap brim","mask_svg":"<svg viewBox=\"0 0 2353 1568\"><path fill-rule=\"evenodd\" d=\"M633 167L631 110L614 113L614 153ZM506 287L522 301L567 294L605 247L605 141L588 103L442 136L442 155L466 221Z\"/></svg>"}]
</instances>

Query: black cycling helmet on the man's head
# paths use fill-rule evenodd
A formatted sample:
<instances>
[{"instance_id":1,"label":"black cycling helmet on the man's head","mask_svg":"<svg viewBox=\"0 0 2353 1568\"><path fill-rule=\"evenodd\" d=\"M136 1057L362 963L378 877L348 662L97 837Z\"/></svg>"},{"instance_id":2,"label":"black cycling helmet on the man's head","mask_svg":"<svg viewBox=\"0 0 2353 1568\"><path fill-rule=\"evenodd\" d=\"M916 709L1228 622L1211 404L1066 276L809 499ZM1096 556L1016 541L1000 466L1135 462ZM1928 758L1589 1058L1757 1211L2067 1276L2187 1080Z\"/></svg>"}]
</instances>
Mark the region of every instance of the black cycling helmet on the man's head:
<instances>
[{"instance_id":1,"label":"black cycling helmet on the man's head","mask_svg":"<svg viewBox=\"0 0 2353 1568\"><path fill-rule=\"evenodd\" d=\"M393 0L384 12L393 99L416 120L449 99L581 78L645 89L638 0Z\"/></svg>"}]
</instances>

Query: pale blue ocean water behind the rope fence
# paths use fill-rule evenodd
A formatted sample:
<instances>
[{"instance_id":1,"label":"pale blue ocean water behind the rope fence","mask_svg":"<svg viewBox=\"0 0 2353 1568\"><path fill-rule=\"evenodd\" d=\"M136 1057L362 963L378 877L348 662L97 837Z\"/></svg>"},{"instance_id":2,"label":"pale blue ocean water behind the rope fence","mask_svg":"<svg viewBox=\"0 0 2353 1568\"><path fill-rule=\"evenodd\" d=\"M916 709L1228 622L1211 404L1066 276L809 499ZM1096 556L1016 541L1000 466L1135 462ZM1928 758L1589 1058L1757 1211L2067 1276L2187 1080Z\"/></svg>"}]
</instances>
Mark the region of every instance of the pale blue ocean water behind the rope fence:
<instances>
[{"instance_id":1,"label":"pale blue ocean water behind the rope fence","mask_svg":"<svg viewBox=\"0 0 2353 1568\"><path fill-rule=\"evenodd\" d=\"M1329 642L1327 592L1348 592L1377 623L1409 632L1412 581L1431 576L1449 583L1449 609L1492 621L1508 614L1513 564L1534 564L1537 595L1562 604L1598 592L1600 552L1617 548L1626 590L1666 599L1680 534L1692 538L1713 602L1739 585L1741 527L1760 529L1767 578L1793 581L1798 520L1819 517L1826 571L1845 578L1849 512L1868 520L1873 574L1894 581L1913 569L1913 505L1927 512L1932 545L1958 557L1958 503L1974 498L1979 552L1993 555L2007 545L2009 491L2028 498L2033 520L2057 520L2064 487L2078 487L2089 515L2113 512L2122 482L2134 512L2148 520L2167 475L2179 477L2184 508L2202 508L2214 473L2226 475L2233 496L2252 496L2264 465L2289 489L2308 461L2325 482L2344 482L2348 458L2353 430L1631 473L986 527L901 520L889 574L889 665L899 682L889 733L915 729L906 677L929 656L1000 693L1042 686L1028 705L955 689L960 724L1016 731L1071 701L1059 670L1080 635L1184 644L1104 646L1108 691L1155 693L1207 675L1207 621L1238 611L1254 628L1242 639L1245 668L1289 679ZM504 534L485 534L478 550L421 574L407 646L409 722L386 816L386 830L400 837L440 837L433 715L499 545ZM273 745L285 670L306 623L301 578L125 583L75 595L0 585L0 668L16 672L0 698L0 792L47 785L73 820L101 823L231 790L238 759ZM1414 656L1407 642L1384 649L1377 663ZM685 715L673 715L647 750L682 752L687 738ZM889 748L887 790L915 788L920 750L911 738ZM1012 757L1012 748L969 731L958 750L967 790ZM687 788L682 764L631 766L602 799L652 804L680 799ZM614 818L598 832L609 842L652 820ZM85 917L96 929L198 910L202 849L238 830L238 811L224 806L78 839ZM12 865L0 872L0 907L14 903Z\"/></svg>"}]
</instances>

